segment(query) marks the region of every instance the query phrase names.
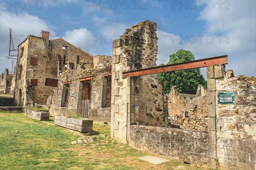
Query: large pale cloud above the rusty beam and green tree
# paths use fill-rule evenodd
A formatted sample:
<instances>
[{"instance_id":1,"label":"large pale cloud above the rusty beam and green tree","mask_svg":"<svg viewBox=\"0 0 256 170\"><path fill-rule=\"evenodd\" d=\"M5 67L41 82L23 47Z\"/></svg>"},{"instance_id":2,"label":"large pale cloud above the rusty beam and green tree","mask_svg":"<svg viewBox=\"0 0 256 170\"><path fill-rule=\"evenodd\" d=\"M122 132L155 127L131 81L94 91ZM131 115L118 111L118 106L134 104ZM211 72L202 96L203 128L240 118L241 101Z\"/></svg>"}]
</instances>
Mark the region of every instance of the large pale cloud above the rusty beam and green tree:
<instances>
[{"instance_id":1,"label":"large pale cloud above the rusty beam and green tree","mask_svg":"<svg viewBox=\"0 0 256 170\"><path fill-rule=\"evenodd\" d=\"M179 35L158 30L157 64L166 64L169 55L179 49L191 51L196 59L227 54L227 69L233 69L236 75L256 76L256 2L229 2L230 10L205 8L201 11L198 20L206 21L202 35ZM194 37L197 38L195 42Z\"/></svg>"}]
</instances>

